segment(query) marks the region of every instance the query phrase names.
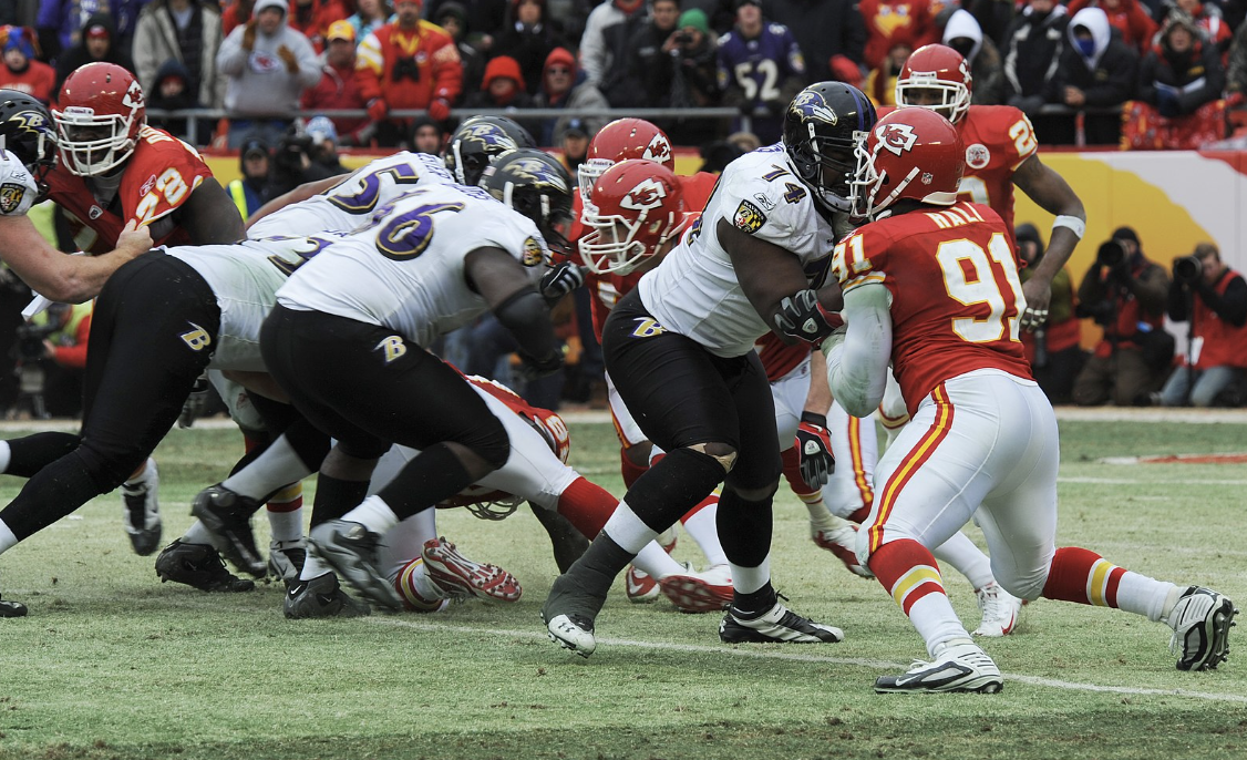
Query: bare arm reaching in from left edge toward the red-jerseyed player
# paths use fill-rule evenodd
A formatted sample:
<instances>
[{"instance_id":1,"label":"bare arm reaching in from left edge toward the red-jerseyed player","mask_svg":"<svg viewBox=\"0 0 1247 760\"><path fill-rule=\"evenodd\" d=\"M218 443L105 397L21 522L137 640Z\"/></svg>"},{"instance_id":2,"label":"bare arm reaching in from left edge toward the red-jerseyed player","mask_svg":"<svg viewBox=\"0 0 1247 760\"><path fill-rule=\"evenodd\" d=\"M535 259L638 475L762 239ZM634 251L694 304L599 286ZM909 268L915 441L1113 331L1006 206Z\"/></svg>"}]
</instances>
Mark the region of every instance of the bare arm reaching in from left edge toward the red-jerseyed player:
<instances>
[{"instance_id":1,"label":"bare arm reaching in from left edge toward the red-jerseyed player","mask_svg":"<svg viewBox=\"0 0 1247 760\"><path fill-rule=\"evenodd\" d=\"M100 293L117 267L152 247L146 227L126 225L117 247L104 256L69 256L47 245L25 216L0 216L0 258L32 291L61 303L81 303Z\"/></svg>"}]
</instances>

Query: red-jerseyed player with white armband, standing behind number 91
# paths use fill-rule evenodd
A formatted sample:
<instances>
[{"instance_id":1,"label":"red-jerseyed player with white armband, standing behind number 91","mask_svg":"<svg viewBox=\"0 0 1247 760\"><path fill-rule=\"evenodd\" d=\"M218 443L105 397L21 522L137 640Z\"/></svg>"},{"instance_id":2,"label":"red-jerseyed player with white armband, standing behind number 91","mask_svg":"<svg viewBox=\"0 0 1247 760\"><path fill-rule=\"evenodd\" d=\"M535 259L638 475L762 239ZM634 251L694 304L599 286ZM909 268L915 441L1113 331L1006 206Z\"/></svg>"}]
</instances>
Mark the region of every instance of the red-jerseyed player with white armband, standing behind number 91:
<instances>
[{"instance_id":1,"label":"red-jerseyed player with white armband, standing behind number 91","mask_svg":"<svg viewBox=\"0 0 1247 760\"><path fill-rule=\"evenodd\" d=\"M1040 161L1026 115L1013 106L970 105L973 86L961 54L946 45L924 45L910 54L897 77L897 104L932 109L956 126L965 147L958 193L999 213L1010 240L1014 186L1056 216L1047 252L1023 286L1021 327L1030 331L1047 319L1052 278L1086 231L1086 212L1061 175Z\"/></svg>"}]
</instances>

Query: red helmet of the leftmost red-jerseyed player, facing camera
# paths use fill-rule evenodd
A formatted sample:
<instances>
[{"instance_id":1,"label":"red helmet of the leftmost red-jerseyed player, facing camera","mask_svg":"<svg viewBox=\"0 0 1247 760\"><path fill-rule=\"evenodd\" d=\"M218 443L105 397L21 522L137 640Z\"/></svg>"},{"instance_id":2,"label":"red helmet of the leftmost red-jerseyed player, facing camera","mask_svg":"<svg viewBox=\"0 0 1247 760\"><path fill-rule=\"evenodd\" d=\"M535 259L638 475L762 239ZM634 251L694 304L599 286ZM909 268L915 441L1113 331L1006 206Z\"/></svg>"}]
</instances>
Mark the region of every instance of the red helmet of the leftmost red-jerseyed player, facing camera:
<instances>
[{"instance_id":1,"label":"red helmet of the leftmost red-jerseyed player, facing camera","mask_svg":"<svg viewBox=\"0 0 1247 760\"><path fill-rule=\"evenodd\" d=\"M65 77L52 120L65 167L80 177L100 176L135 152L147 124L143 89L116 64L80 66Z\"/></svg>"}]
</instances>

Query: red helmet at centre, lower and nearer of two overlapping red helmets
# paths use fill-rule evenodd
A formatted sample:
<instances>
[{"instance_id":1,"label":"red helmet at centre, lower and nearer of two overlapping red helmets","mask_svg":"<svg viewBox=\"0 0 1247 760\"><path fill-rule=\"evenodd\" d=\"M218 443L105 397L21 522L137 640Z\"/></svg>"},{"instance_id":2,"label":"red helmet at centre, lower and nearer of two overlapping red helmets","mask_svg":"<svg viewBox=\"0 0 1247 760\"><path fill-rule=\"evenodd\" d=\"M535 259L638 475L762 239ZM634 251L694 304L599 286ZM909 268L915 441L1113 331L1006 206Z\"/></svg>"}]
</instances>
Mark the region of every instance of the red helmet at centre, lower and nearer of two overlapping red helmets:
<instances>
[{"instance_id":1,"label":"red helmet at centre, lower and nearer of two overlapping red helmets","mask_svg":"<svg viewBox=\"0 0 1247 760\"><path fill-rule=\"evenodd\" d=\"M580 215L585 266L627 275L688 223L680 180L661 163L627 158L606 170Z\"/></svg>"}]
</instances>

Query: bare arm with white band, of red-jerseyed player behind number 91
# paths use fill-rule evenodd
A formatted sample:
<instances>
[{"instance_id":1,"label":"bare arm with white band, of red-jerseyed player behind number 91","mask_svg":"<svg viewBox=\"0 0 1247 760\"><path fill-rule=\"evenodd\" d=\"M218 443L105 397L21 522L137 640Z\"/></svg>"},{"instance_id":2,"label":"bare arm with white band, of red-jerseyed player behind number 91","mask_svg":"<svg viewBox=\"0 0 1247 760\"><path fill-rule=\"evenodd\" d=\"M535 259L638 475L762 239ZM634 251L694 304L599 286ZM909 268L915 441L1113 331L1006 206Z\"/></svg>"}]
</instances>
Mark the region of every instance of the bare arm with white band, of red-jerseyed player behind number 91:
<instances>
[{"instance_id":1,"label":"bare arm with white band, of red-jerseyed player behind number 91","mask_svg":"<svg viewBox=\"0 0 1247 760\"><path fill-rule=\"evenodd\" d=\"M1052 278L1069 262L1070 255L1082 237L1086 228L1086 211L1069 182L1040 161L1038 153L1021 162L1014 172L1014 185L1040 208L1056 215L1047 251L1021 288L1026 298L1021 326L1025 329L1035 329L1047 317L1047 304L1052 298Z\"/></svg>"}]
</instances>

